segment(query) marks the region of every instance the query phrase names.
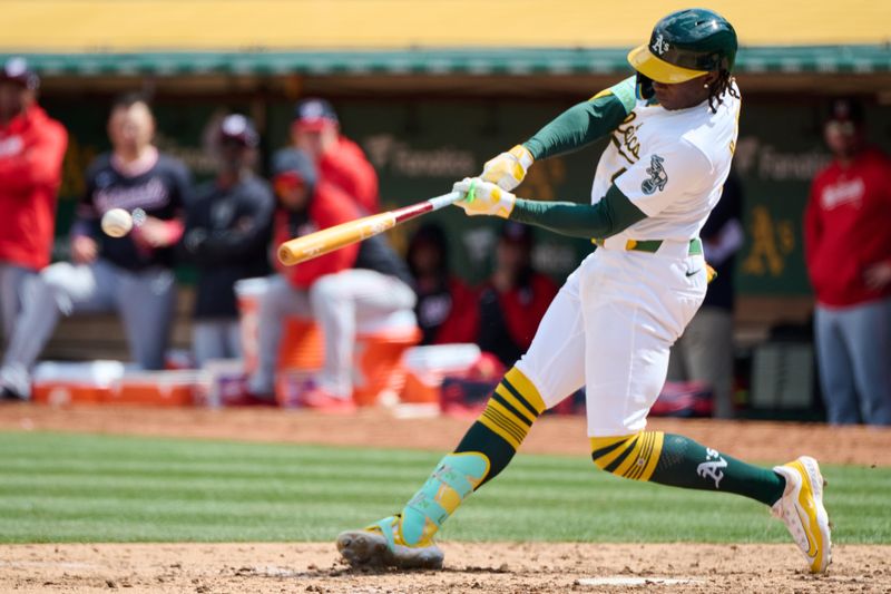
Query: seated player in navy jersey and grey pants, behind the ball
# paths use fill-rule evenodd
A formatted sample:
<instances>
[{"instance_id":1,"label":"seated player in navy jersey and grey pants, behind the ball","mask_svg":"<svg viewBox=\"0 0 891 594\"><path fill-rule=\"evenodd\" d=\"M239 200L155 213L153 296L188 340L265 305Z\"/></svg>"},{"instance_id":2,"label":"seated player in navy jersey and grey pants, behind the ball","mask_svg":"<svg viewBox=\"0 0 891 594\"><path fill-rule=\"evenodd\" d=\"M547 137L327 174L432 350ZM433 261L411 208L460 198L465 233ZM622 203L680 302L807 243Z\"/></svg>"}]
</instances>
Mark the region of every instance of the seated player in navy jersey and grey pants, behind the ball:
<instances>
[{"instance_id":1,"label":"seated player in navy jersey and grey pants, behind the ball","mask_svg":"<svg viewBox=\"0 0 891 594\"><path fill-rule=\"evenodd\" d=\"M48 266L26 300L0 369L7 397L28 398L30 369L60 314L117 311L130 354L143 369L161 369L176 300L174 246L183 235L189 173L153 144L155 118L138 95L117 99L108 119L111 152L87 171L87 189L71 228L71 263ZM101 232L111 208L141 211L124 237Z\"/></svg>"}]
</instances>

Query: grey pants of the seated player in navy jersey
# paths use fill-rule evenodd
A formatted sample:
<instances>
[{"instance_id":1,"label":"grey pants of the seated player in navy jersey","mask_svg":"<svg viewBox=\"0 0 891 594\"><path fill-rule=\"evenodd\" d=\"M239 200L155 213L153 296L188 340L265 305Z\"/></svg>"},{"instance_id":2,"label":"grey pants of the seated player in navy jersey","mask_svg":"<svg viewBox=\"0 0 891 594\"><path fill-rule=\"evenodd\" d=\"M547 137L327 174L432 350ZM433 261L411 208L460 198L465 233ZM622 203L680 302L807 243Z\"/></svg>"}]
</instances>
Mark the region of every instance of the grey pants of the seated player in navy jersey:
<instances>
[{"instance_id":1,"label":"grey pants of the seated player in navy jersey","mask_svg":"<svg viewBox=\"0 0 891 594\"><path fill-rule=\"evenodd\" d=\"M30 369L52 335L59 315L117 310L130 356L143 369L163 369L176 300L170 270L139 272L106 260L91 264L52 264L23 288L21 315L9 343L0 380L26 395Z\"/></svg>"}]
</instances>

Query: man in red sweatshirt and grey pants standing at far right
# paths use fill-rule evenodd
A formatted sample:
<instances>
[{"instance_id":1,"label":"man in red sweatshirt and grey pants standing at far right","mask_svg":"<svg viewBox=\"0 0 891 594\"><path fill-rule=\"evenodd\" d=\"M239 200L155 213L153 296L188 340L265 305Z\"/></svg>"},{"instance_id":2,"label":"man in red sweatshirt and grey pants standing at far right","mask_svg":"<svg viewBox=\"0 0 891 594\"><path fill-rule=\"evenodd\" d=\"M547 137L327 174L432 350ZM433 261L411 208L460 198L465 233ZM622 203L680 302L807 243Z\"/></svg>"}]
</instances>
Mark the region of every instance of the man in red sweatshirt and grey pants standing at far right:
<instances>
[{"instance_id":1,"label":"man in red sweatshirt and grey pants standing at far right","mask_svg":"<svg viewBox=\"0 0 891 594\"><path fill-rule=\"evenodd\" d=\"M833 101L824 136L804 218L823 399L830 422L891 425L891 160L855 101Z\"/></svg>"}]
</instances>

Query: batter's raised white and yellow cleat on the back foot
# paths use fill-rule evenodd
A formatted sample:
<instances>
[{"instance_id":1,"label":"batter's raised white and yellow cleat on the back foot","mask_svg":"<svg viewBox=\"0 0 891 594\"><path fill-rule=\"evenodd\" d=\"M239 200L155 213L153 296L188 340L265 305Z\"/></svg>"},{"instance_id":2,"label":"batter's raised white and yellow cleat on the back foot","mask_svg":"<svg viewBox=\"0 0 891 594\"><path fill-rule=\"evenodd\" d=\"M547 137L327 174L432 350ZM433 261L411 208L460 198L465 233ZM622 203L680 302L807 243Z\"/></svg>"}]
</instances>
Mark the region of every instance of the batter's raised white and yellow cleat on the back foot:
<instances>
[{"instance_id":1,"label":"batter's raised white and yellow cleat on the back foot","mask_svg":"<svg viewBox=\"0 0 891 594\"><path fill-rule=\"evenodd\" d=\"M829 515L823 507L823 475L810 456L775 466L773 471L786 479L786 488L771 514L783 520L807 559L811 573L823 573L832 561Z\"/></svg>"}]
</instances>

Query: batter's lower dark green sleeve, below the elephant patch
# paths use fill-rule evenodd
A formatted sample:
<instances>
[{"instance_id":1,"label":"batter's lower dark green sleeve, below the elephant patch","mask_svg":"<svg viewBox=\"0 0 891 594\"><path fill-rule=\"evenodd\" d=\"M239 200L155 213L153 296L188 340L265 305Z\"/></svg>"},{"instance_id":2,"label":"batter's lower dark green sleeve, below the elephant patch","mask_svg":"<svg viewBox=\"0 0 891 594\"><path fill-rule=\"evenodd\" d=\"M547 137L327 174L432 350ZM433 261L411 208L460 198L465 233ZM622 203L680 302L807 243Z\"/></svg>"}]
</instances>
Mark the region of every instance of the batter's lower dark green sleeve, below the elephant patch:
<instances>
[{"instance_id":1,"label":"batter's lower dark green sleeve, below the elephant patch","mask_svg":"<svg viewBox=\"0 0 891 594\"><path fill-rule=\"evenodd\" d=\"M606 238L621 233L647 215L615 185L597 204L541 202L517 198L510 218L569 235Z\"/></svg>"}]
</instances>

